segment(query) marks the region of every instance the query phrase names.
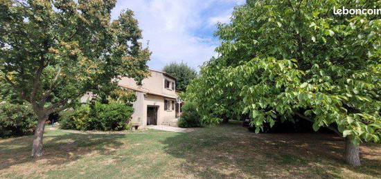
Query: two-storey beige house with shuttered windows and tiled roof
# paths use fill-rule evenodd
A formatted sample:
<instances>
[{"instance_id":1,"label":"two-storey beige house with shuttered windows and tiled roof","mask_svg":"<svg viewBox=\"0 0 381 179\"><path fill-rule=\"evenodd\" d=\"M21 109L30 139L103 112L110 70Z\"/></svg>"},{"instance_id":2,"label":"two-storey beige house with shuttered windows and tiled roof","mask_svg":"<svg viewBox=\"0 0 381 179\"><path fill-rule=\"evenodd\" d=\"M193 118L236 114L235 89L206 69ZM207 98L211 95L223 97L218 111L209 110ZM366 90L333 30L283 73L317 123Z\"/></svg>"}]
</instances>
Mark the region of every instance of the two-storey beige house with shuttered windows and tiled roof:
<instances>
[{"instance_id":1,"label":"two-storey beige house with shuttered windows and tiled roof","mask_svg":"<svg viewBox=\"0 0 381 179\"><path fill-rule=\"evenodd\" d=\"M177 125L179 104L178 91L175 90L176 78L161 71L150 70L149 77L137 85L134 79L123 77L118 86L135 91L132 125L145 129L147 125Z\"/></svg>"}]
</instances>

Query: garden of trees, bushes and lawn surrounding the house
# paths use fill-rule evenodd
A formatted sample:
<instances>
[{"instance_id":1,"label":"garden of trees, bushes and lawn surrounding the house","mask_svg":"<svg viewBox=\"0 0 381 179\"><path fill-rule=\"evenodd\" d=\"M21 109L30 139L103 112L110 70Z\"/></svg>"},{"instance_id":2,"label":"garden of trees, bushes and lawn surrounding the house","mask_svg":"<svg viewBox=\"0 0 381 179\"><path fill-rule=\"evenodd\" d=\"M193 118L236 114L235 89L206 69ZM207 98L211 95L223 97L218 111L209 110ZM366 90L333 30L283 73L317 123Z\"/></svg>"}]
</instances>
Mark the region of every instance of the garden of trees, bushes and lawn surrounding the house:
<instances>
[{"instance_id":1,"label":"garden of trees, bushes and lawn surrounding the house","mask_svg":"<svg viewBox=\"0 0 381 179\"><path fill-rule=\"evenodd\" d=\"M0 178L381 178L381 19L333 14L358 5L381 1L232 8L199 71L163 68L195 128L168 132L130 130L118 80L155 57L134 11L0 1Z\"/></svg>"}]
</instances>

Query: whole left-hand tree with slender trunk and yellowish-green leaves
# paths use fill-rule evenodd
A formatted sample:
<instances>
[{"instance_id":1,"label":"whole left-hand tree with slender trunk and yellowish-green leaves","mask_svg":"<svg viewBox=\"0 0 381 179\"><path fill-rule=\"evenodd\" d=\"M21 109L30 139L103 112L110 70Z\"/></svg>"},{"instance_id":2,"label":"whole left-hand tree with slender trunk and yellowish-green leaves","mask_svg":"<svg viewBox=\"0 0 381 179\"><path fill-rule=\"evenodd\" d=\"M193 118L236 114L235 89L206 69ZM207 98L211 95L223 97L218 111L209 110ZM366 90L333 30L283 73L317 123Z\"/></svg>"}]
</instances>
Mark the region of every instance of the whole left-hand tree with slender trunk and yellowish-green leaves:
<instances>
[{"instance_id":1,"label":"whole left-hand tree with slender trunk and yellowish-green leaves","mask_svg":"<svg viewBox=\"0 0 381 179\"><path fill-rule=\"evenodd\" d=\"M141 81L150 52L131 10L111 20L116 0L0 1L1 82L38 117L32 156L42 156L49 114L87 92L105 95L118 77ZM9 86L8 86L9 87Z\"/></svg>"}]
</instances>

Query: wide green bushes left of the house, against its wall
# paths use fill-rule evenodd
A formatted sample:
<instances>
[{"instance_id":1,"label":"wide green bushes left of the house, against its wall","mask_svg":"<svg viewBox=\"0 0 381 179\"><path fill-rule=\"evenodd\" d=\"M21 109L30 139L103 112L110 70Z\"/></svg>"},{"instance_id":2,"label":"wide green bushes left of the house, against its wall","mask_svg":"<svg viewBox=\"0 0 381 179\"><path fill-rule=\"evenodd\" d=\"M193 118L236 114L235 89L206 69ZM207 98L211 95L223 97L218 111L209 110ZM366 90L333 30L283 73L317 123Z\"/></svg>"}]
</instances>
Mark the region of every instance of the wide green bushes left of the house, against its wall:
<instances>
[{"instance_id":1,"label":"wide green bushes left of the house, against its wall","mask_svg":"<svg viewBox=\"0 0 381 179\"><path fill-rule=\"evenodd\" d=\"M91 106L63 111L60 128L82 131L121 131L127 129L133 112L132 106L121 102L113 101L109 104L96 102Z\"/></svg>"}]
</instances>

